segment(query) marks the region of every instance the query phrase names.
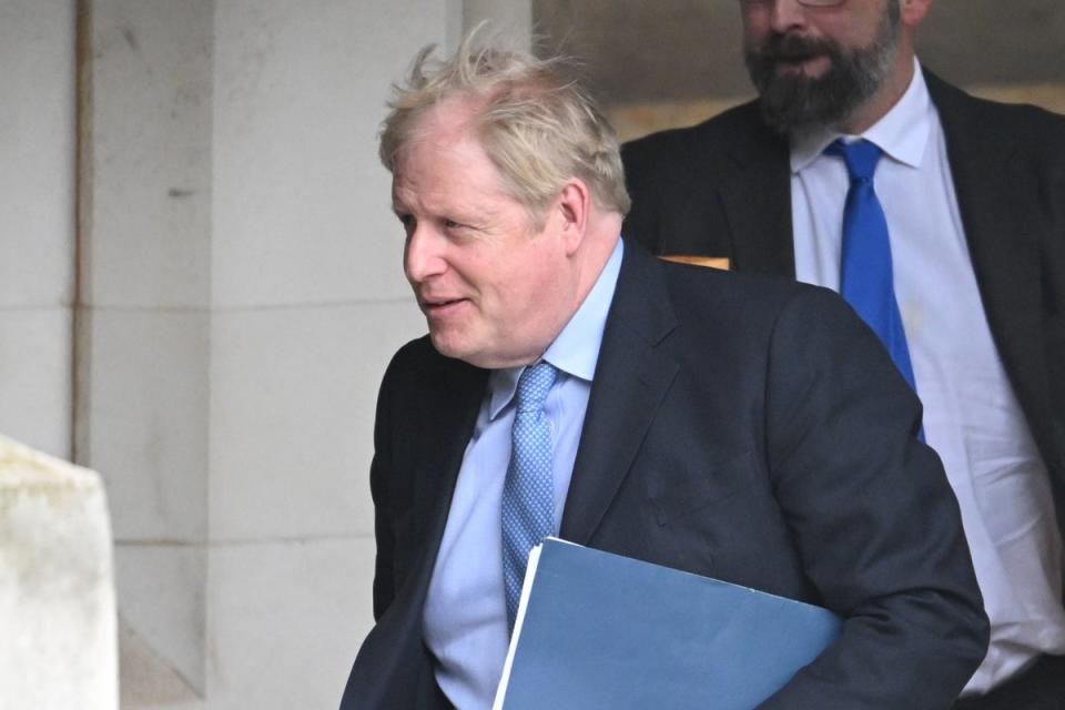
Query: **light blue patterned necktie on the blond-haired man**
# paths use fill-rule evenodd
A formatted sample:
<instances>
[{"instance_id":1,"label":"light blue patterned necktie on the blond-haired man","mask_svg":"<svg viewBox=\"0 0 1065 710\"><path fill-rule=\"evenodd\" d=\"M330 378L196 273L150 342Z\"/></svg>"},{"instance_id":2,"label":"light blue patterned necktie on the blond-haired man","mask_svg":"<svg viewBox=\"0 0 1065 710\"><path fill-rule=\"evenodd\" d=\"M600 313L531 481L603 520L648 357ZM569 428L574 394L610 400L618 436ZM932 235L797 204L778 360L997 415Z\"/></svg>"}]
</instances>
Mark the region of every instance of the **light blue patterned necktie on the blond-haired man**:
<instances>
[{"instance_id":1,"label":"light blue patterned necktie on the blond-haired man","mask_svg":"<svg viewBox=\"0 0 1065 710\"><path fill-rule=\"evenodd\" d=\"M555 532L551 432L544 416L544 400L557 375L550 363L526 367L515 396L510 465L503 486L503 587L507 628L511 630L529 550Z\"/></svg>"}]
</instances>

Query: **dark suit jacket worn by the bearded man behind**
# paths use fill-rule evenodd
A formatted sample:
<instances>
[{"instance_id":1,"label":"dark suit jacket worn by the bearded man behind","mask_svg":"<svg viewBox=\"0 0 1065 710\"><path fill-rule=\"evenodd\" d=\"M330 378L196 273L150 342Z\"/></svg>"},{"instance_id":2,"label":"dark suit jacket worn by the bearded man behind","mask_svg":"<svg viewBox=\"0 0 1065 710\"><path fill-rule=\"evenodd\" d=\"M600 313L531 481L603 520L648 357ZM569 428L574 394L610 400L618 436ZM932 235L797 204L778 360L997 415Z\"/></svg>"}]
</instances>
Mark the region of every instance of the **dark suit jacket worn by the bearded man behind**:
<instances>
[{"instance_id":1,"label":"dark suit jacket worn by the bearded man behind","mask_svg":"<svg viewBox=\"0 0 1065 710\"><path fill-rule=\"evenodd\" d=\"M1065 116L924 77L984 312L1065 523ZM630 239L794 277L788 140L762 123L757 101L621 154Z\"/></svg>"}]
</instances>

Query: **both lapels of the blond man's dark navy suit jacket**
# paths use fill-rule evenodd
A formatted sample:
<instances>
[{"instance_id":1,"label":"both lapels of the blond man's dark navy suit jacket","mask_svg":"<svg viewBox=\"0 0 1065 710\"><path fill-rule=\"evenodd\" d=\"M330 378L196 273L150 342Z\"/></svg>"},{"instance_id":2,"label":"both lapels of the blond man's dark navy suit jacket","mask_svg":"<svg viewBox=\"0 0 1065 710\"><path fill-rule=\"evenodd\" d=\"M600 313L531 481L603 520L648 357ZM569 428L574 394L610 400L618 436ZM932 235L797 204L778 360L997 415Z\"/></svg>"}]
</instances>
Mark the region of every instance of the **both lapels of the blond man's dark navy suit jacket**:
<instances>
[{"instance_id":1,"label":"both lapels of the blond man's dark navy suit jacket","mask_svg":"<svg viewBox=\"0 0 1065 710\"><path fill-rule=\"evenodd\" d=\"M661 265L626 241L562 514L560 534L566 539L588 541L625 479L642 434L677 373L677 363L658 349L676 326ZM434 426L420 433L425 438L416 445L433 452L438 465L423 466L420 479L414 483L415 515L424 520L424 534L418 537L425 544L408 581L410 592L419 596L419 609L488 374L459 361L446 361L440 386L427 393L423 403L430 416L419 419Z\"/></svg>"}]
</instances>

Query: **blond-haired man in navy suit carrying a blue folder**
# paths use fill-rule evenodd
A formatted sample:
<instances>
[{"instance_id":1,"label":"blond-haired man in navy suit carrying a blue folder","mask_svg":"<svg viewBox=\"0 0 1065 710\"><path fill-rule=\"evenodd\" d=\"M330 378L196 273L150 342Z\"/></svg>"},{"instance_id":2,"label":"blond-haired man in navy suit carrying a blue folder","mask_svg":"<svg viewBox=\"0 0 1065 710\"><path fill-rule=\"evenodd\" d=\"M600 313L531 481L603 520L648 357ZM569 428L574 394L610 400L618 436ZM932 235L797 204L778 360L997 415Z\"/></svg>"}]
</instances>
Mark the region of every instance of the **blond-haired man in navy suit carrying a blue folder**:
<instances>
[{"instance_id":1,"label":"blond-haired man in navy suit carrying a blue folder","mask_svg":"<svg viewBox=\"0 0 1065 710\"><path fill-rule=\"evenodd\" d=\"M423 54L381 145L429 334L378 398L345 710L490 707L549 534L843 616L768 708L950 706L986 635L957 506L835 295L623 242L617 140L549 61Z\"/></svg>"}]
</instances>

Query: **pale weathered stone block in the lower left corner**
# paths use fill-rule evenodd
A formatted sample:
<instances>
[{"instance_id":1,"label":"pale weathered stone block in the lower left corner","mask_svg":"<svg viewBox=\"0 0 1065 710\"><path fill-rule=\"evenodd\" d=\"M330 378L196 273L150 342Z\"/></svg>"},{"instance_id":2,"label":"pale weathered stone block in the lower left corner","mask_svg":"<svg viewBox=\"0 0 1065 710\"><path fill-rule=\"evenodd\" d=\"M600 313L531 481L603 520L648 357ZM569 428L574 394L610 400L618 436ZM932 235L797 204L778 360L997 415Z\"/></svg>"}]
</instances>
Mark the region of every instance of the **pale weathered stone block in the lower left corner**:
<instances>
[{"instance_id":1,"label":"pale weathered stone block in the lower left corner","mask_svg":"<svg viewBox=\"0 0 1065 710\"><path fill-rule=\"evenodd\" d=\"M114 710L100 477L0 436L0 710Z\"/></svg>"}]
</instances>

